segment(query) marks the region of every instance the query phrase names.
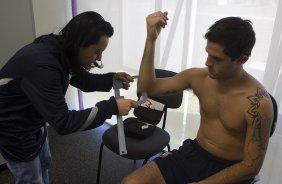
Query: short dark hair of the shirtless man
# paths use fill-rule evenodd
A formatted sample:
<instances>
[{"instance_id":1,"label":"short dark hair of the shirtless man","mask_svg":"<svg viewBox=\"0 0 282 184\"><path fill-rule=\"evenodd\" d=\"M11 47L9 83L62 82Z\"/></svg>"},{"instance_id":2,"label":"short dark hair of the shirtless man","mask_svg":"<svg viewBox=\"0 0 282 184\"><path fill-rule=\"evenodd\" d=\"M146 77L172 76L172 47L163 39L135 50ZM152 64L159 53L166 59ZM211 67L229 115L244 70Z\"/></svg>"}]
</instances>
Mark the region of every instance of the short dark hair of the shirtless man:
<instances>
[{"instance_id":1,"label":"short dark hair of the shirtless man","mask_svg":"<svg viewBox=\"0 0 282 184\"><path fill-rule=\"evenodd\" d=\"M249 57L256 42L252 22L240 17L226 17L216 21L208 29L205 38L222 45L224 53L232 60L241 55Z\"/></svg>"}]
</instances>

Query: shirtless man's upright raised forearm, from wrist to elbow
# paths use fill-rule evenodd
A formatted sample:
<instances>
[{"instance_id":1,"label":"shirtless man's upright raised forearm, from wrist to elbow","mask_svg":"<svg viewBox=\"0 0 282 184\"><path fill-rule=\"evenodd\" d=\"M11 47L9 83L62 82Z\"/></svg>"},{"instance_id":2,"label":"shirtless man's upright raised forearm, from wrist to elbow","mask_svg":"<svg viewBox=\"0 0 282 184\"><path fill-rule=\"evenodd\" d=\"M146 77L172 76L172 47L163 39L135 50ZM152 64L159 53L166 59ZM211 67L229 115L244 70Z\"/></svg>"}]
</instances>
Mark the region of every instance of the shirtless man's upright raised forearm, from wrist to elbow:
<instances>
[{"instance_id":1,"label":"shirtless man's upright raised forearm, from wrist to elbow","mask_svg":"<svg viewBox=\"0 0 282 184\"><path fill-rule=\"evenodd\" d=\"M155 80L155 40L146 39L138 77L138 91L147 91Z\"/></svg>"}]
</instances>

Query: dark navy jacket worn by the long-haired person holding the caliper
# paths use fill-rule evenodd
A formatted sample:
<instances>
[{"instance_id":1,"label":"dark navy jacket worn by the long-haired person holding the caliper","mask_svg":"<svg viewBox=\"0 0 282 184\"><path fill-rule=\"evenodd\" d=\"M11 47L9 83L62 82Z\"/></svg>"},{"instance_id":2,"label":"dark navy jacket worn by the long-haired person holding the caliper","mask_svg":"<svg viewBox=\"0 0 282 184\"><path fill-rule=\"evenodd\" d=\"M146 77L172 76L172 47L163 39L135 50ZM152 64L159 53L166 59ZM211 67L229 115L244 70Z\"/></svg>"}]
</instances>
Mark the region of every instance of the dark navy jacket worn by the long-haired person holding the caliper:
<instances>
[{"instance_id":1,"label":"dark navy jacket worn by the long-haired person holding the caliper","mask_svg":"<svg viewBox=\"0 0 282 184\"><path fill-rule=\"evenodd\" d=\"M0 151L7 160L34 159L46 138L41 130L46 122L59 134L69 134L98 127L116 114L113 97L93 108L68 110L64 96L69 83L82 91L109 91L113 73L81 69L70 78L61 58L60 41L49 35L20 49L1 69Z\"/></svg>"}]
</instances>

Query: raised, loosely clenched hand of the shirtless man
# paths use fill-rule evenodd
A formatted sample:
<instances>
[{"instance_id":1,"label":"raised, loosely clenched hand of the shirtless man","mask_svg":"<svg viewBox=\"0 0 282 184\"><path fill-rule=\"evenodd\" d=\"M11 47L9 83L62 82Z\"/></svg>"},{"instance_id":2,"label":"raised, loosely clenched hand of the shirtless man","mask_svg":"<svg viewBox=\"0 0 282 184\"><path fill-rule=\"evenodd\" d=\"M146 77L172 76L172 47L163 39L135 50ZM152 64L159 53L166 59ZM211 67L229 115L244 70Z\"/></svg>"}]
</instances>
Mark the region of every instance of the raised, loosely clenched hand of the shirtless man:
<instances>
[{"instance_id":1,"label":"raised, loosely clenched hand of the shirtless man","mask_svg":"<svg viewBox=\"0 0 282 184\"><path fill-rule=\"evenodd\" d=\"M155 12L147 16L147 39L155 41L161 29L167 25L167 12Z\"/></svg>"}]
</instances>

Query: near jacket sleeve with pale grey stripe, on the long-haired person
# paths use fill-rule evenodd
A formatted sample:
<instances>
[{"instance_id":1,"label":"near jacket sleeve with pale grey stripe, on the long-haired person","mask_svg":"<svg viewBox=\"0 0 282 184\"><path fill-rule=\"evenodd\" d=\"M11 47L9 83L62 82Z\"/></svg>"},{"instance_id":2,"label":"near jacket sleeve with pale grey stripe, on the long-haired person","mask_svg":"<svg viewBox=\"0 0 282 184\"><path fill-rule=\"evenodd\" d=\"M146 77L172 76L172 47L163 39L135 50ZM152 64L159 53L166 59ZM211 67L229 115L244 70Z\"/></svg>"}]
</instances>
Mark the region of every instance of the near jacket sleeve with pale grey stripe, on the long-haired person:
<instances>
[{"instance_id":1,"label":"near jacket sleeve with pale grey stripe, on the long-haired person","mask_svg":"<svg viewBox=\"0 0 282 184\"><path fill-rule=\"evenodd\" d=\"M98 127L116 114L117 105L114 98L101 101L93 108L68 110L62 76L60 71L52 66L37 66L21 81L21 88L33 107L59 134Z\"/></svg>"}]
</instances>

